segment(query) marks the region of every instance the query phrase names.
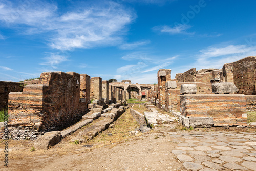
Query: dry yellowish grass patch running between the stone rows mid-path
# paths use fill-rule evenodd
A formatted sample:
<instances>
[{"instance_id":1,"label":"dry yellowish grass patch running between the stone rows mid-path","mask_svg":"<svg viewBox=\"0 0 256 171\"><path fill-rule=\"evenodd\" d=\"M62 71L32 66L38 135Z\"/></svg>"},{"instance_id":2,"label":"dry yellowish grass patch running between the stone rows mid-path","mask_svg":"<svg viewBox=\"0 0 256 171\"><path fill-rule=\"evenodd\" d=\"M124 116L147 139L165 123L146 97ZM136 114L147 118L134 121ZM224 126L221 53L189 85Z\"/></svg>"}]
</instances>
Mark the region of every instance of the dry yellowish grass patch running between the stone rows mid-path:
<instances>
[{"instance_id":1,"label":"dry yellowish grass patch running between the stone rows mid-path","mask_svg":"<svg viewBox=\"0 0 256 171\"><path fill-rule=\"evenodd\" d=\"M128 141L127 138L131 137L129 131L133 131L137 126L139 126L139 124L133 118L130 110L127 110L114 122L113 127L109 127L109 129L99 133L98 136L89 140L87 143L102 146L120 141ZM112 136L108 136L108 133L112 133Z\"/></svg>"}]
</instances>

